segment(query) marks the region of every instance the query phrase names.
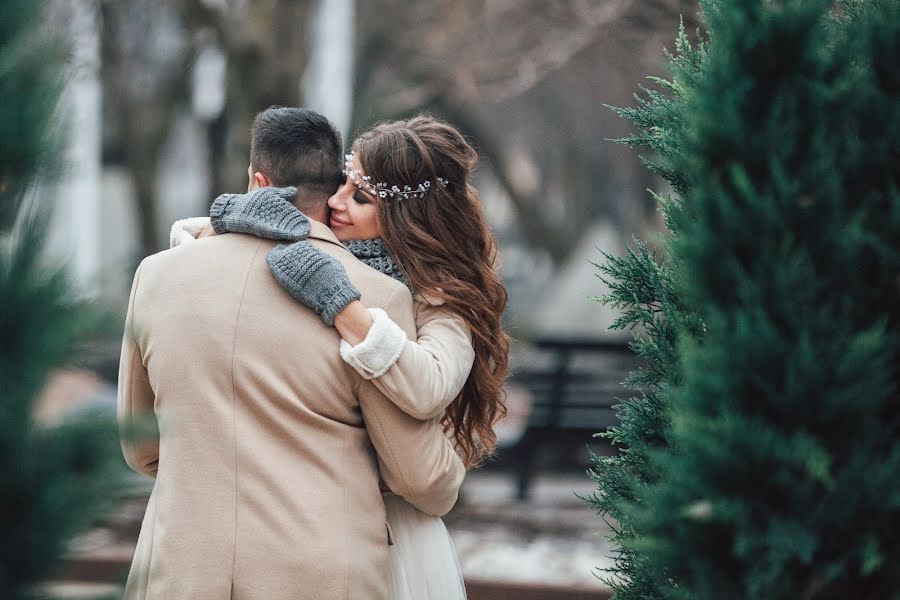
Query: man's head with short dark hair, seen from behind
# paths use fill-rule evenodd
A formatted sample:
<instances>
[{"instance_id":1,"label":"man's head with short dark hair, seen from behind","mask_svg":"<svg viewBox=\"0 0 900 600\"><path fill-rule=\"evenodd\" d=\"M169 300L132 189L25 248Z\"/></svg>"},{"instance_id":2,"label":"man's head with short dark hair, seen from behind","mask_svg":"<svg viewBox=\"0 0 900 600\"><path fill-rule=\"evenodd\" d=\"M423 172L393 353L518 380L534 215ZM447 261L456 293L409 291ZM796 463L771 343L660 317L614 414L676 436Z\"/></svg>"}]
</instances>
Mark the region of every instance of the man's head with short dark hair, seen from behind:
<instances>
[{"instance_id":1,"label":"man's head with short dark hair, seen from behind","mask_svg":"<svg viewBox=\"0 0 900 600\"><path fill-rule=\"evenodd\" d=\"M253 119L250 135L252 169L277 187L296 186L301 209L316 208L341 184L341 134L316 111L267 108Z\"/></svg>"}]
</instances>

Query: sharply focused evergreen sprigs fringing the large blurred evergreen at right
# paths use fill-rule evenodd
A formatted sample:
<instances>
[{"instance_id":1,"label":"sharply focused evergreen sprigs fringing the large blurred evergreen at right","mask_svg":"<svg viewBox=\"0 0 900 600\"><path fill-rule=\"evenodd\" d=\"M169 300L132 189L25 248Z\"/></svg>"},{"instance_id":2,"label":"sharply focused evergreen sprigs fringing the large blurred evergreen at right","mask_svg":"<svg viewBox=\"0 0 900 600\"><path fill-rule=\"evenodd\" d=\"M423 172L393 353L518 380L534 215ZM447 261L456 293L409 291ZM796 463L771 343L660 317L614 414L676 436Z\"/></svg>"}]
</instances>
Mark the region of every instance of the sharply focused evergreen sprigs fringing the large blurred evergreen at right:
<instances>
[{"instance_id":1,"label":"sharply focused evergreen sprigs fringing the large blurred evergreen at right","mask_svg":"<svg viewBox=\"0 0 900 600\"><path fill-rule=\"evenodd\" d=\"M677 332L700 334L696 315L676 290L676 265L669 247L680 233L675 215L682 207L677 199L689 189L676 167L685 135L680 114L682 96L701 75L707 47L702 40L692 46L682 25L675 49L675 54L668 55L671 79L652 78L663 91L642 87L643 96L635 96L636 107L613 108L638 128L636 134L619 142L650 151L651 157L642 160L669 183L675 194L654 195L669 226L668 233L661 236L658 250L637 241L626 256L604 254L605 262L597 265L600 278L610 288L609 294L598 300L622 311L612 329L641 332L631 348L645 365L625 381L639 396L618 404L615 408L619 424L598 434L617 446L618 454L594 456L590 471L598 491L588 501L609 525L610 541L616 548L615 566L609 570L612 576L605 576L604 580L615 591L617 600L662 598L663 590L669 586L665 573L654 569L635 549L639 531L630 510L641 501L647 486L663 475L650 462L649 454L668 448L670 415L665 391L680 381Z\"/></svg>"}]
</instances>

